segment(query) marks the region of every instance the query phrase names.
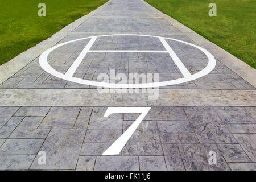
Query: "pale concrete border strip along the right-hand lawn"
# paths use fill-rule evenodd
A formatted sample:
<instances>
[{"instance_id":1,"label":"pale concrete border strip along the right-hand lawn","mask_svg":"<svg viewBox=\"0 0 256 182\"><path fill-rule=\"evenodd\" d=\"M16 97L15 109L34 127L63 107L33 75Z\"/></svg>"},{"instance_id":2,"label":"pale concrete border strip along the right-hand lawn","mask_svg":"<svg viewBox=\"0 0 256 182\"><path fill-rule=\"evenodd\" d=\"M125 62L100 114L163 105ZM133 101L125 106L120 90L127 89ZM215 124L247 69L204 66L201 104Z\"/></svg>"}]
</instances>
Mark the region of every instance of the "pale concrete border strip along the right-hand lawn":
<instances>
[{"instance_id":1,"label":"pale concrete border strip along the right-hand lawn","mask_svg":"<svg viewBox=\"0 0 256 182\"><path fill-rule=\"evenodd\" d=\"M249 82L249 84L253 85L256 88L256 70L250 65L244 63L242 60L238 59L236 56L233 56L229 52L225 51L224 49L218 47L216 44L210 42L209 40L205 39L203 36L197 34L195 31L191 30L190 28L184 26L177 20L171 18L170 16L164 14L162 11L159 11L155 7L151 6L147 2L141 0L147 6L149 6L155 13L162 16L167 22L171 23L173 26L178 28L181 32L187 35L193 42L199 44L199 46L207 49L213 56L220 61L221 63L225 64L226 67L231 69L233 72L237 73L243 80Z\"/></svg>"}]
</instances>

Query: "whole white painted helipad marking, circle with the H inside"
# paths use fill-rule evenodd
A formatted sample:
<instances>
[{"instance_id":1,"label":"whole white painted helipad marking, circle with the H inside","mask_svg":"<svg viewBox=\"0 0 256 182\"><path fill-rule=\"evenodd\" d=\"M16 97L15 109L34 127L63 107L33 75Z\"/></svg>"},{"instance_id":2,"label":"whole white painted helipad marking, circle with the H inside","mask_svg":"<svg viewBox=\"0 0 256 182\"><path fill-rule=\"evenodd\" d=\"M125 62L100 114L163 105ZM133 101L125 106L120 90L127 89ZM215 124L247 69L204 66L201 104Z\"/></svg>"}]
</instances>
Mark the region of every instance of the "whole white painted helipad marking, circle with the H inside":
<instances>
[{"instance_id":1,"label":"whole white painted helipad marking, circle with the H inside","mask_svg":"<svg viewBox=\"0 0 256 182\"><path fill-rule=\"evenodd\" d=\"M175 57L174 55L174 52L170 52L170 49L167 48L167 51L160 51L160 52L168 52L170 54L170 56L172 57L173 60L175 60L175 64L177 64L177 67L179 69L181 69L181 72L184 73L183 75L185 75L183 78L178 78L176 80L169 80L169 81L162 81L162 82L152 82L152 83L142 83L142 84L115 84L115 83L108 83L108 82L98 82L98 81L90 81L90 80L83 80L81 78L76 78L76 77L73 77L71 75L73 75L73 73L75 72L76 68L78 67L78 65L81 63L81 57L84 55L84 53L86 52L96 52L96 51L92 51L92 50L89 50L90 45L89 43L93 43L93 40L94 39L97 39L98 37L103 37L103 36L148 36L148 37L152 37L152 38L159 38L159 40L163 40L163 39L168 39L168 40L174 40L174 41L177 41L177 42L181 42L181 43L184 43L184 44L187 44L189 46L193 46L197 49L199 49L200 51L204 52L205 55L208 57L208 64L207 66L202 69L200 72L197 72L193 75L189 75L185 69L187 68L183 68L182 65L179 64L179 57ZM93 39L94 38L94 39ZM73 65L73 68L69 68L71 71L69 72L66 72L66 74L63 74L63 73L60 73L58 71L56 71L55 69L53 69L51 67L51 65L49 65L48 61L47 61L47 56L49 55L49 53L51 51L53 51L54 49L60 47L60 46L63 46L65 44L68 44L68 43L72 43L72 42L76 42L76 41L79 41L79 40L84 40L84 39L91 39L90 42L88 43L88 45L86 45L86 49L84 51L83 54L80 53L80 57L77 57L77 61L76 63ZM164 42L166 42L164 40ZM101 51L101 50L98 50L98 51ZM103 52L103 51L101 51ZM104 52L121 52L121 51L118 51L118 50L106 50ZM125 52L128 52L128 51L125 51ZM139 51L139 50L131 50L129 52L142 52L142 51ZM143 51L145 52L145 51ZM155 51L146 51L146 52L155 52ZM181 62L181 61L180 61ZM207 75L210 71L212 71L216 65L216 60L214 59L213 55L211 53L209 53L206 49L204 48L201 48L199 46L196 46L194 44L191 44L191 43L188 43L188 42L185 42L183 40L177 40L177 39L172 39L172 38L164 38L164 37L160 37L160 36L152 36L152 35L137 35L137 34L113 34L113 35L98 35L98 36L90 36L90 37L87 37L87 38L80 38L80 39L75 39L75 40L70 40L68 42L64 42L64 43L61 43L61 44L58 44L56 46L53 46L52 48L49 48L47 51L44 51L42 53L42 55L39 57L39 64L40 66L48 73L50 73L51 75L53 76L56 76L58 78L61 78L61 79L64 79L64 80L67 80L67 81L72 81L72 82L76 82L78 84L85 84L85 85L92 85L92 86L101 86L101 87L106 87L106 88L153 88L153 87L159 87L159 86L167 86L167 85L174 85L174 84L181 84L181 83L184 83L184 82L188 82L188 81L192 81L192 80L196 80L197 78L200 78L202 76L205 76Z\"/></svg>"}]
</instances>

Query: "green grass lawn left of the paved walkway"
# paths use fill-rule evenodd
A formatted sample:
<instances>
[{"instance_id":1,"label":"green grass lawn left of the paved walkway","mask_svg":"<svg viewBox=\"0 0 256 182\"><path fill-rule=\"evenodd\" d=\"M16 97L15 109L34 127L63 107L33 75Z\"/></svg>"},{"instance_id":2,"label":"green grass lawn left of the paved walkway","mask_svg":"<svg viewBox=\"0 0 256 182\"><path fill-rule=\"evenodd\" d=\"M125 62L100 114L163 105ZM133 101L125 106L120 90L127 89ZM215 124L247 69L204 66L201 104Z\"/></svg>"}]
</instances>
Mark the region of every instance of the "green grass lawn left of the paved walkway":
<instances>
[{"instance_id":1,"label":"green grass lawn left of the paved walkway","mask_svg":"<svg viewBox=\"0 0 256 182\"><path fill-rule=\"evenodd\" d=\"M0 0L0 65L108 0ZM46 4L46 17L38 4Z\"/></svg>"}]
</instances>

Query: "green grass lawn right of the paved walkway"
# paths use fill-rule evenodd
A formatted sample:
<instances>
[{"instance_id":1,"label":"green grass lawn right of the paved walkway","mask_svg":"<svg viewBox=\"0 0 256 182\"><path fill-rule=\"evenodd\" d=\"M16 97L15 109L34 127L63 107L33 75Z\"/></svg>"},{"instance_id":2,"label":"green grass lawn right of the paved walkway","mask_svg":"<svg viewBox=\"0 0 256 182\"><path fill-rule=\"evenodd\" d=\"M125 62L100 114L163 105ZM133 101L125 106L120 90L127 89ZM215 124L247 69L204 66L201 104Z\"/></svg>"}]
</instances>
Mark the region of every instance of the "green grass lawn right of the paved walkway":
<instances>
[{"instance_id":1,"label":"green grass lawn right of the paved walkway","mask_svg":"<svg viewBox=\"0 0 256 182\"><path fill-rule=\"evenodd\" d=\"M256 68L255 0L145 0L245 63ZM217 16L210 17L209 3Z\"/></svg>"}]
</instances>

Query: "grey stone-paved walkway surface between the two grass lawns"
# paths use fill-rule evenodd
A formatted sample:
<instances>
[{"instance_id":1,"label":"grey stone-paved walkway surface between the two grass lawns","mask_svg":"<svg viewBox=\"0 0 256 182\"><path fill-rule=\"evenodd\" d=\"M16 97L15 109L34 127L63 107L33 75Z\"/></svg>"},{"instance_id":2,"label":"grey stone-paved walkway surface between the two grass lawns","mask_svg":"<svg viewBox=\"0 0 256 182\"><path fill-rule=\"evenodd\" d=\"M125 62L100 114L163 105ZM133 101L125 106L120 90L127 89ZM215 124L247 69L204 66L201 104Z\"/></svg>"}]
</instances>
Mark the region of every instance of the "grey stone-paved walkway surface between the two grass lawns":
<instances>
[{"instance_id":1,"label":"grey stone-paved walkway surface between the two grass lawns","mask_svg":"<svg viewBox=\"0 0 256 182\"><path fill-rule=\"evenodd\" d=\"M198 45L140 0L110 1L58 44L112 34L162 36ZM64 74L89 41L56 48L47 57L49 64ZM199 49L174 40L166 43L188 74L207 66L207 56ZM159 73L159 81L184 77L174 57L160 52L166 47L155 37L99 37L90 50L74 77L97 81L100 73L109 74L110 69L127 76ZM122 50L128 51L118 52ZM0 84L0 169L255 170L255 88L216 53L213 56L217 64L208 75L160 87L156 100L148 100L147 94L99 94L95 86L47 73L36 58ZM102 152L138 114L106 118L108 106L151 106L117 156L102 156ZM46 164L38 163L40 151L46 152ZM210 151L216 152L216 164L208 163Z\"/></svg>"}]
</instances>

